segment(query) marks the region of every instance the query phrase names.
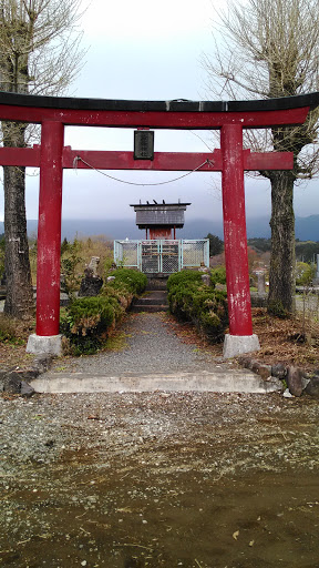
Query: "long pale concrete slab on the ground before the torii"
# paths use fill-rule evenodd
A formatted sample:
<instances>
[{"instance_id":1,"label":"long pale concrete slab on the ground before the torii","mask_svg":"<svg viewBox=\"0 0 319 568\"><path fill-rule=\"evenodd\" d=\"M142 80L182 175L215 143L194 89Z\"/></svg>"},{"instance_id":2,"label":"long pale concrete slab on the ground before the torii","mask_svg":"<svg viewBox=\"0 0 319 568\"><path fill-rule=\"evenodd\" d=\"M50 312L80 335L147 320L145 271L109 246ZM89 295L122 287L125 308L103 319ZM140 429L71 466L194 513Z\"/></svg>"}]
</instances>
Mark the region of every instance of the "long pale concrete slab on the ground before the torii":
<instances>
[{"instance_id":1,"label":"long pale concrete slab on the ground before the torii","mask_svg":"<svg viewBox=\"0 0 319 568\"><path fill-rule=\"evenodd\" d=\"M274 393L281 392L279 379L263 381L246 371L101 376L84 373L47 373L30 383L37 393Z\"/></svg>"}]
</instances>

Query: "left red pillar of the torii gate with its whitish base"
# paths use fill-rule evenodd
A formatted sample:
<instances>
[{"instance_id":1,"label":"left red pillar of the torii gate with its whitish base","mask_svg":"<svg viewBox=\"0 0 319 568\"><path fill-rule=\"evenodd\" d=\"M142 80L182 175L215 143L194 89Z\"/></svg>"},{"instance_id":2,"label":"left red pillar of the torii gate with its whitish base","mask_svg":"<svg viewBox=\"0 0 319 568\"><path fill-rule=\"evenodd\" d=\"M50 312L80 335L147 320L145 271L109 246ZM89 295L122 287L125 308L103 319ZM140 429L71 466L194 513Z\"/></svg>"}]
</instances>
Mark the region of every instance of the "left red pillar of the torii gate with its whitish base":
<instances>
[{"instance_id":1,"label":"left red pillar of the torii gate with its whitish base","mask_svg":"<svg viewBox=\"0 0 319 568\"><path fill-rule=\"evenodd\" d=\"M37 335L27 351L60 354L60 254L64 126L43 122L41 130L38 223ZM32 337L32 336L31 336ZM29 338L30 343L30 338Z\"/></svg>"}]
</instances>

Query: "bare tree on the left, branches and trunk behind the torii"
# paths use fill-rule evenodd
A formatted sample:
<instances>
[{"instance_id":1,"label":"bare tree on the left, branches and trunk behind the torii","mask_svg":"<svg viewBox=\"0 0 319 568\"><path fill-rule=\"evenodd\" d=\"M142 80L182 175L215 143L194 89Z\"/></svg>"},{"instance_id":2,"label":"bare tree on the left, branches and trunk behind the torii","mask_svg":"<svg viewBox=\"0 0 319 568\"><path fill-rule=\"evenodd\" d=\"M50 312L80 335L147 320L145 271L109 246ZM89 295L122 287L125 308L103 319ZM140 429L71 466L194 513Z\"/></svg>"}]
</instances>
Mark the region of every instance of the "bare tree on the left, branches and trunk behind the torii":
<instances>
[{"instance_id":1,"label":"bare tree on the left, branches and trunk behind the torii","mask_svg":"<svg viewBox=\"0 0 319 568\"><path fill-rule=\"evenodd\" d=\"M0 0L0 89L58 94L80 68L81 0ZM28 145L35 126L1 122L4 146ZM25 217L25 169L3 168L7 300L18 318L33 313Z\"/></svg>"}]
</instances>

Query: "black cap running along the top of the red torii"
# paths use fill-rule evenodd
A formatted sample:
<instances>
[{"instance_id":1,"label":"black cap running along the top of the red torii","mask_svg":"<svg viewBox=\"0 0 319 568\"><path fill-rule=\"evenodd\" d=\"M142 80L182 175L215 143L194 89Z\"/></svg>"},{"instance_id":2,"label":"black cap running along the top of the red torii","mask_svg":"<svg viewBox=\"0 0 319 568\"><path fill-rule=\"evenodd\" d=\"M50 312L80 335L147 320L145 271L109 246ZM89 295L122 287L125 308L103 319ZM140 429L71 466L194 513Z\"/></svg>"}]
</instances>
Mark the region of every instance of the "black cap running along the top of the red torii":
<instances>
[{"instance_id":1,"label":"black cap running along the top of the red torii","mask_svg":"<svg viewBox=\"0 0 319 568\"><path fill-rule=\"evenodd\" d=\"M250 101L131 101L113 99L83 99L71 97L43 97L0 91L0 104L38 106L47 109L74 109L127 112L256 112L298 109L319 105L319 92Z\"/></svg>"}]
</instances>

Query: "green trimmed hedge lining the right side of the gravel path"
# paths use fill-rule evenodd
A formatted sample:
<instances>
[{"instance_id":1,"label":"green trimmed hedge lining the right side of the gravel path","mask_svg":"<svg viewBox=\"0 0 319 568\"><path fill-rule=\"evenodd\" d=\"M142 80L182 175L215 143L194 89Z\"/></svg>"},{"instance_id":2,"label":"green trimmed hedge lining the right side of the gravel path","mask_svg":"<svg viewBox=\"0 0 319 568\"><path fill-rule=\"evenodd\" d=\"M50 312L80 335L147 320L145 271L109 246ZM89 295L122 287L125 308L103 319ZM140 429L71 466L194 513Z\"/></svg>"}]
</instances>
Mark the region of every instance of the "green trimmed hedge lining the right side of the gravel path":
<instances>
[{"instance_id":1,"label":"green trimmed hedge lining the right side of the gravel path","mask_svg":"<svg viewBox=\"0 0 319 568\"><path fill-rule=\"evenodd\" d=\"M200 276L200 272L194 271L169 276L169 311L177 320L193 323L212 343L218 343L223 341L228 325L228 311L227 293L215 290L215 286L226 282L225 271L212 271L212 286L203 284Z\"/></svg>"}]
</instances>

